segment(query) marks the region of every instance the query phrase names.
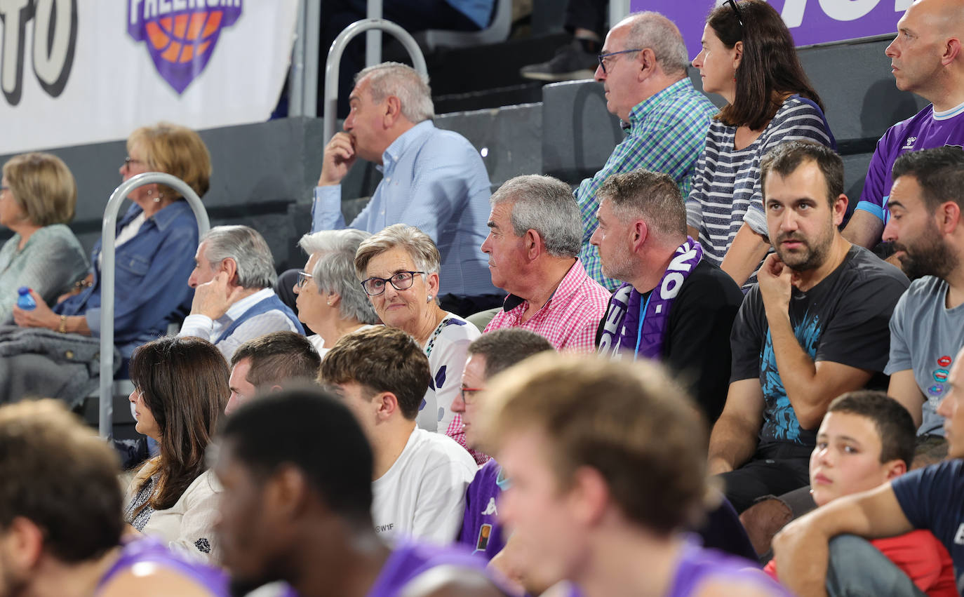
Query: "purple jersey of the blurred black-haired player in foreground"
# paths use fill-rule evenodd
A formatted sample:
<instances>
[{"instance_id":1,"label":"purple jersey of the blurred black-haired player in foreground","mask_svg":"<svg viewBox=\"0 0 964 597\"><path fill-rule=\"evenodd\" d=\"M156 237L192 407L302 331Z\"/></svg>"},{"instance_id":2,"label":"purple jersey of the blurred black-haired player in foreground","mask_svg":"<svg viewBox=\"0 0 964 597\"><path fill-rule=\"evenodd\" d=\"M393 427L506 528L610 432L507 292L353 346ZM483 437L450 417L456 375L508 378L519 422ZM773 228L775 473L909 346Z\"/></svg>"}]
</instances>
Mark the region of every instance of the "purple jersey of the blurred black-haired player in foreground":
<instances>
[{"instance_id":1,"label":"purple jersey of the blurred black-haired player in foreground","mask_svg":"<svg viewBox=\"0 0 964 597\"><path fill-rule=\"evenodd\" d=\"M461 546L402 543L388 556L367 597L395 597L416 576L436 566L459 566L485 574L486 560Z\"/></svg>"}]
</instances>

